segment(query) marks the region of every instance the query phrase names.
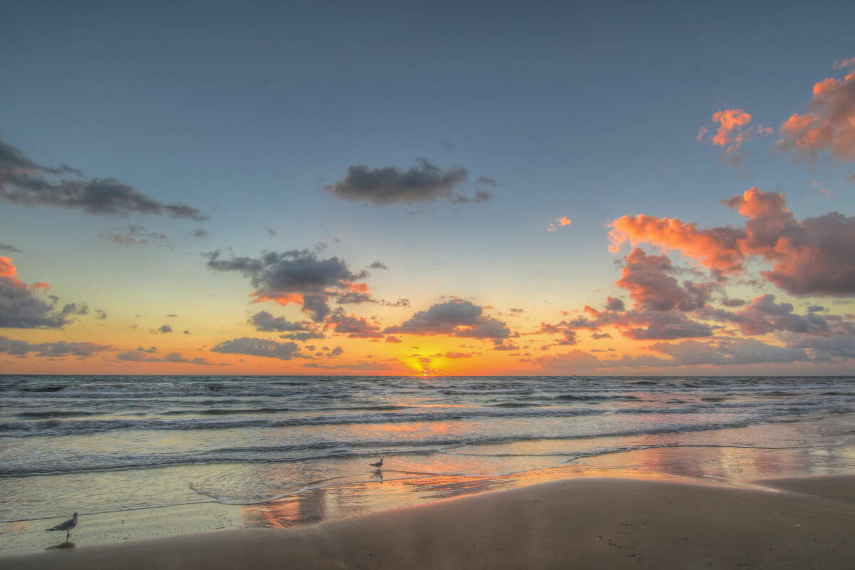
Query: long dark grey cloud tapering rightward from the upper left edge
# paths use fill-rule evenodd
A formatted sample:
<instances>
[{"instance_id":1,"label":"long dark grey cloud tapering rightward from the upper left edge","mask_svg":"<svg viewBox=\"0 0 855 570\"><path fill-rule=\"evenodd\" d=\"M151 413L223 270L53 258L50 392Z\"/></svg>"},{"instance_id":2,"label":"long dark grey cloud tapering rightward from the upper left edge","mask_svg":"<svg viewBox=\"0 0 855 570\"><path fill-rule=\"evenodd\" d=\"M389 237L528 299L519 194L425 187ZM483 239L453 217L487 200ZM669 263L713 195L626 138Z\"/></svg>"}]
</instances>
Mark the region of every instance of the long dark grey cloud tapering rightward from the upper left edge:
<instances>
[{"instance_id":1,"label":"long dark grey cloud tapering rightward from the upper left edge","mask_svg":"<svg viewBox=\"0 0 855 570\"><path fill-rule=\"evenodd\" d=\"M164 214L173 218L208 219L185 203L159 202L113 178L52 180L66 175L81 177L82 173L68 165L40 165L0 140L0 198L9 202L80 209L88 214Z\"/></svg>"}]
</instances>

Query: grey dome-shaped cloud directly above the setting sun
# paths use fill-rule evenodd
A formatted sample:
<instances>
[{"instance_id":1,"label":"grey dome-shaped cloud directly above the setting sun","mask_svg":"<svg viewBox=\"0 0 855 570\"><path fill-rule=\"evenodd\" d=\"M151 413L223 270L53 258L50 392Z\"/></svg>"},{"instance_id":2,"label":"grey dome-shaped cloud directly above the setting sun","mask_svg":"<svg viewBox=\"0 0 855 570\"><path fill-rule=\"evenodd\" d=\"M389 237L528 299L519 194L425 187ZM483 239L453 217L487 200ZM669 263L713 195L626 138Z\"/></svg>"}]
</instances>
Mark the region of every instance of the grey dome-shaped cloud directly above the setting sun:
<instances>
[{"instance_id":1,"label":"grey dome-shaped cloud directly above the setting sun","mask_svg":"<svg viewBox=\"0 0 855 570\"><path fill-rule=\"evenodd\" d=\"M383 332L471 338L509 338L510 329L501 320L481 314L478 305L454 299L437 303L426 311L419 311L398 326L387 327Z\"/></svg>"}]
</instances>

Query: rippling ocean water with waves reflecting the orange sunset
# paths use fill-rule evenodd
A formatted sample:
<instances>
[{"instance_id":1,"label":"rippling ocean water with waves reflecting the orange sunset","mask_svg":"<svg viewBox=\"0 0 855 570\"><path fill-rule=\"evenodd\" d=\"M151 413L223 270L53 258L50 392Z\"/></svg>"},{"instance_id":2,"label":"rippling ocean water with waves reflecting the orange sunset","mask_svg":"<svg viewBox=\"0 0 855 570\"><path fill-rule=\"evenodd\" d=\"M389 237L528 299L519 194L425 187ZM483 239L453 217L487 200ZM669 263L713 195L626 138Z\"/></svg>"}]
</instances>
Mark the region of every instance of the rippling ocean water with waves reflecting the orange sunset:
<instances>
[{"instance_id":1,"label":"rippling ocean water with waves reflecting the orange sunset","mask_svg":"<svg viewBox=\"0 0 855 570\"><path fill-rule=\"evenodd\" d=\"M569 467L855 472L853 378L7 375L0 402L5 523Z\"/></svg>"}]
</instances>

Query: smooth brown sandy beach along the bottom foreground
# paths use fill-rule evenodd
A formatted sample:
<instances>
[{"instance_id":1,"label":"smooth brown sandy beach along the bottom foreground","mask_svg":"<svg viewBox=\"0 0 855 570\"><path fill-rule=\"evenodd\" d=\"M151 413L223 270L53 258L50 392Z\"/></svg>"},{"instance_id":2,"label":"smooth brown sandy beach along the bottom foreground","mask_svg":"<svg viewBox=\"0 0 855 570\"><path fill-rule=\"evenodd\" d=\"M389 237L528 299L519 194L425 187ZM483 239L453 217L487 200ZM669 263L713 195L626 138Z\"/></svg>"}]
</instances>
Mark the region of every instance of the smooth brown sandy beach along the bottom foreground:
<instances>
[{"instance_id":1,"label":"smooth brown sandy beach along the bottom foreground","mask_svg":"<svg viewBox=\"0 0 855 570\"><path fill-rule=\"evenodd\" d=\"M565 479L292 530L7 556L0 567L851 568L853 497L852 476L755 489Z\"/></svg>"}]
</instances>

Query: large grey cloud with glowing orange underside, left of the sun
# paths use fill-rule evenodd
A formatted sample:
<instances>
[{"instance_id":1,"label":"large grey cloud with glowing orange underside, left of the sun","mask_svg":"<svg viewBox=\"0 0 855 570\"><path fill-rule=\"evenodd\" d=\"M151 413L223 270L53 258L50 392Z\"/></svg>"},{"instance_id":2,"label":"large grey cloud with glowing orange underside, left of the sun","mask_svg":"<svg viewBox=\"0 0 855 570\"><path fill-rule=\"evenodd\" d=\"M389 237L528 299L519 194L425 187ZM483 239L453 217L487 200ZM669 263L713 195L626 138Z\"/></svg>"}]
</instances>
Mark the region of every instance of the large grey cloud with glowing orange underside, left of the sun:
<instances>
[{"instance_id":1,"label":"large grey cloud with glowing orange underside, left of the sun","mask_svg":"<svg viewBox=\"0 0 855 570\"><path fill-rule=\"evenodd\" d=\"M310 250L265 252L260 258L232 257L221 259L219 250L206 254L208 267L215 271L236 271L250 279L257 302L274 301L280 305L300 303L304 313L321 322L329 314L329 298L344 296L351 285L368 276L368 272L351 272L338 257L319 259ZM367 289L367 285L366 285ZM358 291L356 291L358 293Z\"/></svg>"}]
</instances>

